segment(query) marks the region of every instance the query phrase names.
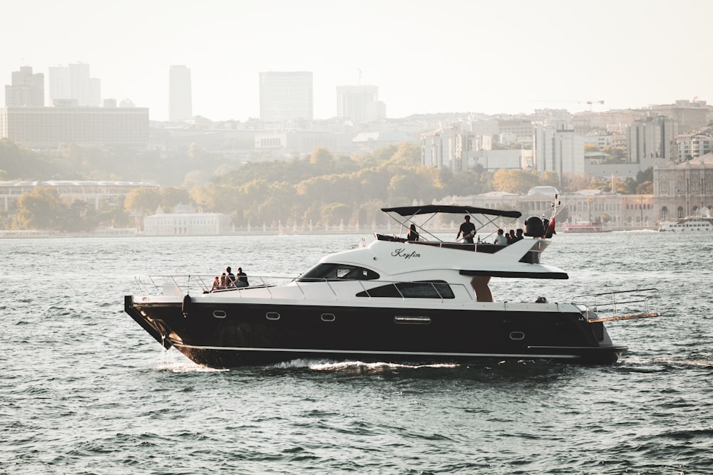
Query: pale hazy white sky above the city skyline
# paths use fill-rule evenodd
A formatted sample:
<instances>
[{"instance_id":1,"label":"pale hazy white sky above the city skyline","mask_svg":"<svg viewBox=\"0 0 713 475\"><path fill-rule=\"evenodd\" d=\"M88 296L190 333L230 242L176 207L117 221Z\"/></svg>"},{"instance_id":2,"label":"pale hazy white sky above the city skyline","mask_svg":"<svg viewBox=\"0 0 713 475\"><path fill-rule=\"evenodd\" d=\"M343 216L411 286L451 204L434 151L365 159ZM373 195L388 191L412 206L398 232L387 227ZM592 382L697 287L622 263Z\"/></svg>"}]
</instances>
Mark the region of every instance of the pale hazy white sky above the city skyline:
<instances>
[{"instance_id":1,"label":"pale hazy white sky above the city skyline","mask_svg":"<svg viewBox=\"0 0 713 475\"><path fill-rule=\"evenodd\" d=\"M260 71L312 71L317 119L359 70L389 118L713 103L710 0L25 0L2 16L0 85L84 62L102 98L152 120L168 119L172 64L213 120L259 117Z\"/></svg>"}]
</instances>

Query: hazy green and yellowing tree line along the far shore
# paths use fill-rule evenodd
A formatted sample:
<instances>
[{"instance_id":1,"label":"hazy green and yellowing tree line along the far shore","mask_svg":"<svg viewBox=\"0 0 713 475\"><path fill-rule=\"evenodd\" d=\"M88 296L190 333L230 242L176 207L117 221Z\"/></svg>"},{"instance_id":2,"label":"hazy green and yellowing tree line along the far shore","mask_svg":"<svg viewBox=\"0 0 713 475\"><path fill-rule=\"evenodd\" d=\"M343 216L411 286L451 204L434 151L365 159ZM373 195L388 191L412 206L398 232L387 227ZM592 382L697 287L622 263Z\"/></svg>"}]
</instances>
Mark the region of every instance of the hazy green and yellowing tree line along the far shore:
<instances>
[{"instance_id":1,"label":"hazy green and yellowing tree line along the far shore","mask_svg":"<svg viewBox=\"0 0 713 475\"><path fill-rule=\"evenodd\" d=\"M5 145L5 147L8 147ZM16 149L18 156L40 160L34 152ZM81 151L73 150L74 155ZM194 155L200 155L194 151ZM198 159L196 159L198 160ZM202 160L211 160L202 157ZM198 160L200 162L200 160ZM198 165L198 162L195 165ZM6 165L0 147L0 169ZM166 165L168 166L168 165ZM200 170L194 170L196 172ZM371 153L342 156L318 148L309 157L270 162L248 162L237 169L222 167L205 183L182 186L138 187L113 205L95 210L84 202L65 204L53 189L39 188L24 194L16 212L1 216L5 229L53 229L91 231L96 226L138 226L143 216L161 207L172 212L178 204L198 212L224 213L237 228L247 226L330 226L381 224L381 207L431 203L448 196L481 194L492 190L525 194L531 187L548 184L562 192L584 188L609 189L610 182L584 177L540 176L526 170L482 167L453 173L421 165L421 148L413 143L390 145ZM190 176L191 172L185 173ZM645 193L652 172L617 183L617 192ZM88 179L88 178L83 178ZM96 178L95 178L96 179ZM113 179L121 179L115 176Z\"/></svg>"}]
</instances>

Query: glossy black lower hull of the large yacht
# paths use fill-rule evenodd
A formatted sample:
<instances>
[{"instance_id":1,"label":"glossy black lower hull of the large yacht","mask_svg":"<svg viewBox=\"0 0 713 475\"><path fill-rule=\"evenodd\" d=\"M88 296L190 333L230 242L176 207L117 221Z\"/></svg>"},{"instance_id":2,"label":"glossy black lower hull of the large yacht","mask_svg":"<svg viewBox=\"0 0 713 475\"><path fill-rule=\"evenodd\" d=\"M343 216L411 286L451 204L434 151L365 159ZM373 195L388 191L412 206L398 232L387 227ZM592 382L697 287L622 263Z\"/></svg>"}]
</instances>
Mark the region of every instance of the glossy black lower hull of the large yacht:
<instances>
[{"instance_id":1,"label":"glossy black lower hull of the large yacht","mask_svg":"<svg viewBox=\"0 0 713 475\"><path fill-rule=\"evenodd\" d=\"M601 322L580 313L133 303L125 311L165 348L210 367L305 359L456 362L553 358L616 362L627 348L603 345Z\"/></svg>"}]
</instances>

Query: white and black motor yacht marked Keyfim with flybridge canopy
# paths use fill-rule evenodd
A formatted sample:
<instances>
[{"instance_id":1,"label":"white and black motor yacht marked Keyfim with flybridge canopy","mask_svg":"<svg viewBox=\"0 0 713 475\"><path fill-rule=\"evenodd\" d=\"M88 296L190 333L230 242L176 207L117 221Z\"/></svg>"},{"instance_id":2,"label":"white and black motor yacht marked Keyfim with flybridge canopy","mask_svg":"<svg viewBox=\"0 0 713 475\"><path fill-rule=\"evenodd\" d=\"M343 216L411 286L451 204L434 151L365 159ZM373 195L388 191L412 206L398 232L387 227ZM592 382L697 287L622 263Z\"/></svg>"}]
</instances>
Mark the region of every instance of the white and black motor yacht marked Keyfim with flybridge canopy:
<instances>
[{"instance_id":1,"label":"white and black motor yacht marked Keyfim with flybridge canopy","mask_svg":"<svg viewBox=\"0 0 713 475\"><path fill-rule=\"evenodd\" d=\"M488 286L491 278L568 278L541 263L551 234L538 217L525 221L525 239L496 246L453 242L451 231L448 240L440 239L433 218L467 214L482 230L504 219L517 220L520 212L441 205L382 211L404 233L416 224L419 237L409 241L376 234L371 243L325 256L282 284L250 276L248 287L210 291L210 277L137 278L143 294L125 296L125 311L164 348L175 347L210 367L298 358L607 363L627 348L612 343L606 320L658 315L648 308L656 289L594 295L581 302L520 302L519 296L496 301ZM637 310L620 313L632 306Z\"/></svg>"}]
</instances>

